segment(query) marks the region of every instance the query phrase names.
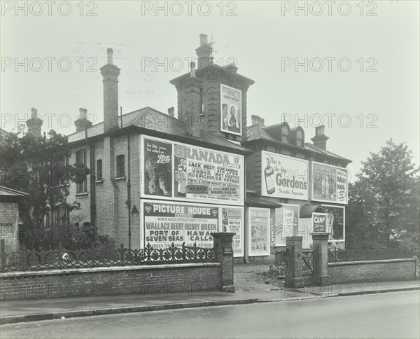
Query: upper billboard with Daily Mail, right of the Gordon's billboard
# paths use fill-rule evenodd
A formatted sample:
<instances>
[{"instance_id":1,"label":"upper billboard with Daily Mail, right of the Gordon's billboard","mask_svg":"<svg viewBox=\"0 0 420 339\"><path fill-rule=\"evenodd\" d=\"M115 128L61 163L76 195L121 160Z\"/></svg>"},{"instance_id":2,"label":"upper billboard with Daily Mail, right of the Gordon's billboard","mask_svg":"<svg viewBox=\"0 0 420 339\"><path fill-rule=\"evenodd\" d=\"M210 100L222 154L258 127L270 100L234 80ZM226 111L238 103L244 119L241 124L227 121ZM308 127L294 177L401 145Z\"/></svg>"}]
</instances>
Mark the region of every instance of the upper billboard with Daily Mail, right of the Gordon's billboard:
<instances>
[{"instance_id":1,"label":"upper billboard with Daily Mail, right of the Gordon's billboard","mask_svg":"<svg viewBox=\"0 0 420 339\"><path fill-rule=\"evenodd\" d=\"M347 203L347 170L342 167L312 162L311 200Z\"/></svg>"}]
</instances>

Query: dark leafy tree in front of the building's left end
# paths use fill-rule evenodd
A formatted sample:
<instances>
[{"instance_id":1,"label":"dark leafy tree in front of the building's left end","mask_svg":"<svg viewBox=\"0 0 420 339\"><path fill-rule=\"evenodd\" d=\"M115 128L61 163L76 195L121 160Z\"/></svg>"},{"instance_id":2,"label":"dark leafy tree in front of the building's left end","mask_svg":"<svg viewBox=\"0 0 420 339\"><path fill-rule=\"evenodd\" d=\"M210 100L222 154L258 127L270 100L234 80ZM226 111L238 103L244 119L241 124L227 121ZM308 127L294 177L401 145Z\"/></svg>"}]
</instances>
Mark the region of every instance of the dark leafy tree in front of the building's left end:
<instances>
[{"instance_id":1,"label":"dark leafy tree in front of the building's left end","mask_svg":"<svg viewBox=\"0 0 420 339\"><path fill-rule=\"evenodd\" d=\"M35 138L18 132L1 137L1 185L29 193L19 205L25 230L44 225L45 215L60 205L67 212L78 209L69 204L69 184L85 179L89 170L84 165L70 165L67 138L50 130L48 137ZM42 230L41 230L42 231Z\"/></svg>"}]
</instances>

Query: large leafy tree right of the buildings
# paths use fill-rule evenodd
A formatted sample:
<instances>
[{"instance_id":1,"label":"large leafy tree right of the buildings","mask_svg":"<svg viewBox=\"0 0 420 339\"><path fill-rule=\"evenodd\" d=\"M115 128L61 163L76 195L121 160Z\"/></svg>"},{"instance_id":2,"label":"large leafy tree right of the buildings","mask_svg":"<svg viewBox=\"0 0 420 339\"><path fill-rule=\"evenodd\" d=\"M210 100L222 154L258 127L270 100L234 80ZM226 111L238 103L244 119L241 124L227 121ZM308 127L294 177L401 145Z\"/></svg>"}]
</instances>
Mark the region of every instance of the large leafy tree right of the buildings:
<instances>
[{"instance_id":1,"label":"large leafy tree right of the buildings","mask_svg":"<svg viewBox=\"0 0 420 339\"><path fill-rule=\"evenodd\" d=\"M379 153L370 153L349 186L347 223L359 232L373 227L367 240L418 243L420 181L419 168L414 166L407 145L392 139Z\"/></svg>"}]
</instances>

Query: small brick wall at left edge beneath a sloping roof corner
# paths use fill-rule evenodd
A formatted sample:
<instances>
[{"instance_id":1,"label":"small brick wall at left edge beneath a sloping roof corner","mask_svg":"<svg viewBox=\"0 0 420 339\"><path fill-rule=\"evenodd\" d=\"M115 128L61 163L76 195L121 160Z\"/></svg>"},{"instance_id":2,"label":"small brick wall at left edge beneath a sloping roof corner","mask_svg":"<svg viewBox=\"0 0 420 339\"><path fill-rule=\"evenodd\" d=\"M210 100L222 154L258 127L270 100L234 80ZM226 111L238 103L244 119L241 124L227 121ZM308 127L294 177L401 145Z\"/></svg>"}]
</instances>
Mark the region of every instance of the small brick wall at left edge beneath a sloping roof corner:
<instances>
[{"instance_id":1,"label":"small brick wall at left edge beneath a sloping roof corner","mask_svg":"<svg viewBox=\"0 0 420 339\"><path fill-rule=\"evenodd\" d=\"M0 239L4 240L4 250L18 250L18 202L0 202Z\"/></svg>"}]
</instances>

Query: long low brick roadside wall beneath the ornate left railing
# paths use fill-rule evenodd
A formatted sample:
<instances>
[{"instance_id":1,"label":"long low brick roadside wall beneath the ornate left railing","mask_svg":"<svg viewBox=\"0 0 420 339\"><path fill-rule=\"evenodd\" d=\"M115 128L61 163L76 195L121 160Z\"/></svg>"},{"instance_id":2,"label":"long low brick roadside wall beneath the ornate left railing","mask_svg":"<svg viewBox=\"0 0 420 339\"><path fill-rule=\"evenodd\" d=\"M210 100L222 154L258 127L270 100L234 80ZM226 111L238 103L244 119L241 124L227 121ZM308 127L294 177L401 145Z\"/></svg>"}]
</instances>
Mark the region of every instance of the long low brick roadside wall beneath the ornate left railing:
<instances>
[{"instance_id":1,"label":"long low brick roadside wall beneath the ornate left railing","mask_svg":"<svg viewBox=\"0 0 420 339\"><path fill-rule=\"evenodd\" d=\"M0 300L176 294L221 289L220 263L83 268L0 274Z\"/></svg>"}]
</instances>

